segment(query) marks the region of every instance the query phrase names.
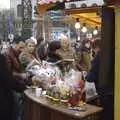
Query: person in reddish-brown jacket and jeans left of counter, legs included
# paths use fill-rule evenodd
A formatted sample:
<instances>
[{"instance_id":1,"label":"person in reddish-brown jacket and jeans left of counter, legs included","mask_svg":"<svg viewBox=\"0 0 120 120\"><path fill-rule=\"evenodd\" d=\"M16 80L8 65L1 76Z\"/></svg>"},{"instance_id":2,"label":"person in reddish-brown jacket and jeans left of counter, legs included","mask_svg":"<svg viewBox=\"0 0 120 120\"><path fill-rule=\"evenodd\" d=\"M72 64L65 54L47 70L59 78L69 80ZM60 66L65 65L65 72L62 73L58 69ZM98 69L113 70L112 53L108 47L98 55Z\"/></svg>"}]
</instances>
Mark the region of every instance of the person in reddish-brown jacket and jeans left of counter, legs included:
<instances>
[{"instance_id":1,"label":"person in reddish-brown jacket and jeans left of counter, legs included","mask_svg":"<svg viewBox=\"0 0 120 120\"><path fill-rule=\"evenodd\" d=\"M8 68L12 72L14 79L21 84L30 85L31 82L28 79L30 75L22 69L18 59L19 54L24 49L25 43L23 41L14 39L13 43L11 43L11 45L7 48L7 51L4 55L8 64ZM18 120L23 116L23 93L20 93L19 91L13 91L13 96L15 119Z\"/></svg>"}]
</instances>

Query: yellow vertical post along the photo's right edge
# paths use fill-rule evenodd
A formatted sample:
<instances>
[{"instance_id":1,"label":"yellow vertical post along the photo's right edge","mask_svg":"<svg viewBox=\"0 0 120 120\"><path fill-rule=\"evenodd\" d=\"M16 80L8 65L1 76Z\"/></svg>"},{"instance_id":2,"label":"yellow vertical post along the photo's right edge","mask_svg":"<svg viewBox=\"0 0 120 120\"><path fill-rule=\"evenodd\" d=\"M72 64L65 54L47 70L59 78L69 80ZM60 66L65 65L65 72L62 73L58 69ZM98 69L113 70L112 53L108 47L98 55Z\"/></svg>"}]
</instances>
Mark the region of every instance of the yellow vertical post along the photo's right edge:
<instances>
[{"instance_id":1,"label":"yellow vertical post along the photo's right edge","mask_svg":"<svg viewBox=\"0 0 120 120\"><path fill-rule=\"evenodd\" d=\"M120 5L115 7L115 104L114 120L120 120Z\"/></svg>"}]
</instances>

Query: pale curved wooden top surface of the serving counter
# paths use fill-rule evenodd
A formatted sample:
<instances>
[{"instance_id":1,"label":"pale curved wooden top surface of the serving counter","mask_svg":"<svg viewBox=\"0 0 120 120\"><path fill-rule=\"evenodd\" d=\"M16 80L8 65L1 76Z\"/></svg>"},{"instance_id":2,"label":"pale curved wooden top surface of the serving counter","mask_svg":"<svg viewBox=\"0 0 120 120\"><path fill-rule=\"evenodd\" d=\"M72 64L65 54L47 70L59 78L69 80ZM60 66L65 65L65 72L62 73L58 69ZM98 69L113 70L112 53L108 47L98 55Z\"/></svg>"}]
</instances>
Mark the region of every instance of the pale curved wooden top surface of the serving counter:
<instances>
[{"instance_id":1,"label":"pale curved wooden top surface of the serving counter","mask_svg":"<svg viewBox=\"0 0 120 120\"><path fill-rule=\"evenodd\" d=\"M47 100L47 98L44 96L36 97L34 92L32 92L32 89L27 89L25 91L25 96L29 98L30 100L32 100L33 102L38 103L39 105L43 107L58 111L60 113L69 115L72 118L77 118L77 119L82 119L82 118L85 118L87 116L90 116L92 114L96 114L102 111L101 107L97 107L97 106L89 105L89 104L85 105L85 111L70 110L68 109L68 107L64 107L62 105L51 104Z\"/></svg>"}]
</instances>

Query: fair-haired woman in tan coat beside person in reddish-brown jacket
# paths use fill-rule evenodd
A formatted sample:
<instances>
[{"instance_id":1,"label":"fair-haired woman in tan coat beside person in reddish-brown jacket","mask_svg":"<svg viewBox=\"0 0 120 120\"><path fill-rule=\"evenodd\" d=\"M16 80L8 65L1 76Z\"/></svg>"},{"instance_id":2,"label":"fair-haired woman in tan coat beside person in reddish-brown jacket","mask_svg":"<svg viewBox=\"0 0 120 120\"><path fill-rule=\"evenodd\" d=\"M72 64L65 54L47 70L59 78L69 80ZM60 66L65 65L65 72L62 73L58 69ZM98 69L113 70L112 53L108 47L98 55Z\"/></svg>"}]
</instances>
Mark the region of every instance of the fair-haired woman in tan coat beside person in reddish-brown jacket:
<instances>
[{"instance_id":1,"label":"fair-haired woman in tan coat beside person in reddish-brown jacket","mask_svg":"<svg viewBox=\"0 0 120 120\"><path fill-rule=\"evenodd\" d=\"M26 48L19 55L19 60L21 65L23 66L23 69L25 70L28 67L28 65L35 59L35 43L33 40L28 39L26 40Z\"/></svg>"}]
</instances>

